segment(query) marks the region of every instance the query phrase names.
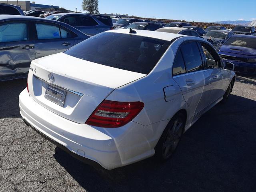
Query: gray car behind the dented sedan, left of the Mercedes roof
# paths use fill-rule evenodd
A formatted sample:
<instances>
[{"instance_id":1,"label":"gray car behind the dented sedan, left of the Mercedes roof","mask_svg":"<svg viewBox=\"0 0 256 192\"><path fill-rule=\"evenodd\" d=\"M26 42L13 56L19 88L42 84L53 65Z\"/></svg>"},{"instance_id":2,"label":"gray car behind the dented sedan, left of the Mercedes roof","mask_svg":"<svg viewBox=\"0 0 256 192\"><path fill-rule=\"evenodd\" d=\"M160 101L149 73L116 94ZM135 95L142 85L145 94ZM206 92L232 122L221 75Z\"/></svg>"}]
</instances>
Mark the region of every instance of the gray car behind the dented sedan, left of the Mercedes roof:
<instances>
[{"instance_id":1,"label":"gray car behind the dented sedan, left of the Mercedes roof","mask_svg":"<svg viewBox=\"0 0 256 192\"><path fill-rule=\"evenodd\" d=\"M64 22L91 36L113 29L111 18L102 15L58 13L47 16L46 19Z\"/></svg>"}]
</instances>

